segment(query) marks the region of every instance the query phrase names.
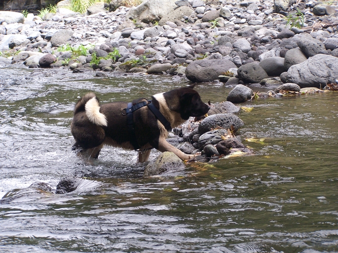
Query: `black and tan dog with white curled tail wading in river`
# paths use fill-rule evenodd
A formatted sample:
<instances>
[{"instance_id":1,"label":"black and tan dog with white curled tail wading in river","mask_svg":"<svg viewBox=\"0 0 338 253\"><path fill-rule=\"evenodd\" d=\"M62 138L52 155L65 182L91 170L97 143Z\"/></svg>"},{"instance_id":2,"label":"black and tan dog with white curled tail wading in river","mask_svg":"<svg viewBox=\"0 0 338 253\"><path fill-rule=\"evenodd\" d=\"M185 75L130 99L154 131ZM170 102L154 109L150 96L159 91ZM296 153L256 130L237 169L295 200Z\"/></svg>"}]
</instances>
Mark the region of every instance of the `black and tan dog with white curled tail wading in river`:
<instances>
[{"instance_id":1,"label":"black and tan dog with white curled tail wading in river","mask_svg":"<svg viewBox=\"0 0 338 253\"><path fill-rule=\"evenodd\" d=\"M188 155L166 141L168 130L185 122L189 117L204 116L210 107L203 103L194 90L195 85L181 87L169 92L152 96L151 101L144 98L132 102L133 109L127 108L128 102L99 104L94 93L83 96L75 105L71 122L71 134L75 143L72 150L87 158L98 158L104 145L121 147L129 150L138 149L138 162L148 160L152 148L160 152L171 151L182 160L189 160ZM160 115L151 109L155 107ZM161 118L162 114L162 120ZM165 122L163 122L165 121Z\"/></svg>"}]
</instances>

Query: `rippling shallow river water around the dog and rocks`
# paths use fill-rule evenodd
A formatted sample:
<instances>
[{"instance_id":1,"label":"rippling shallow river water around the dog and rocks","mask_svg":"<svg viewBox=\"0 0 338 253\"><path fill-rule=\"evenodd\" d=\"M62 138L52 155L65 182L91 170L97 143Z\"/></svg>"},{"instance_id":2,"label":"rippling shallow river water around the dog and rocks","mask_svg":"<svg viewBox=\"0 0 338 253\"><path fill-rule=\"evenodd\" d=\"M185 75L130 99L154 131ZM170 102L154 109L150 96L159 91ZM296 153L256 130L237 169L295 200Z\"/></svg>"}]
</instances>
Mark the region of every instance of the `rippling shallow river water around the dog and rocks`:
<instances>
[{"instance_id":1,"label":"rippling shallow river water around the dog and rocks","mask_svg":"<svg viewBox=\"0 0 338 253\"><path fill-rule=\"evenodd\" d=\"M337 252L337 93L243 104L254 108L238 114L237 134L255 155L184 172L142 178L133 151L104 148L93 164L71 152L72 108L87 91L131 101L185 85L0 69L0 197L33 182L87 179L75 192L0 204L0 252ZM231 89L196 90L213 103Z\"/></svg>"}]
</instances>

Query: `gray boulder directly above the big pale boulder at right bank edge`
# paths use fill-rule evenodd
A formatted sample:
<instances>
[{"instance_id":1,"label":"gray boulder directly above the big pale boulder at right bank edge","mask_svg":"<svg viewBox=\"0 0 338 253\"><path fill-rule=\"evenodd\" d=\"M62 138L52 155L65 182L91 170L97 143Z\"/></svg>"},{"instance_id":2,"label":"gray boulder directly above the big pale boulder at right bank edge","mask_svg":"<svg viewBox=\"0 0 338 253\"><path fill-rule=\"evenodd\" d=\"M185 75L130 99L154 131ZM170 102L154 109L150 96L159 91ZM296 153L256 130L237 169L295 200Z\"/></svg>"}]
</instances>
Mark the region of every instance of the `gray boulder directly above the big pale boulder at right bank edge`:
<instances>
[{"instance_id":1,"label":"gray boulder directly above the big pale boulder at right bank edge","mask_svg":"<svg viewBox=\"0 0 338 253\"><path fill-rule=\"evenodd\" d=\"M324 43L319 39L313 38L311 35L299 36L297 46L307 57L317 54L327 54Z\"/></svg>"}]
</instances>

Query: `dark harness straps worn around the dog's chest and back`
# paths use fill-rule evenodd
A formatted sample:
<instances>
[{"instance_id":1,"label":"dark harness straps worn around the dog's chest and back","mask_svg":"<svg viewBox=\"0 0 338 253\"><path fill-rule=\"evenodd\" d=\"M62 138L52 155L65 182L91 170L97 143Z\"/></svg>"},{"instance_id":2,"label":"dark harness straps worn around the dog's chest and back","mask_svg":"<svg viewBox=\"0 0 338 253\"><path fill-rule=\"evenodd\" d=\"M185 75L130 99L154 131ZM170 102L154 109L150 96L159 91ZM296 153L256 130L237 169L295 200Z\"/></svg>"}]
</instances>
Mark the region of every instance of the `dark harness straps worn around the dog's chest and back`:
<instances>
[{"instance_id":1,"label":"dark harness straps worn around the dog's chest and back","mask_svg":"<svg viewBox=\"0 0 338 253\"><path fill-rule=\"evenodd\" d=\"M128 132L131 136L131 144L133 145L134 149L137 150L140 146L136 140L135 128L134 128L134 120L133 120L133 112L144 107L148 106L148 108L154 113L154 115L160 120L160 122L164 125L166 130L169 132L171 131L170 122L163 116L159 109L152 103L151 100L143 101L133 105L132 103L128 103L127 108L122 110L122 115L127 115L127 125L128 125Z\"/></svg>"}]
</instances>

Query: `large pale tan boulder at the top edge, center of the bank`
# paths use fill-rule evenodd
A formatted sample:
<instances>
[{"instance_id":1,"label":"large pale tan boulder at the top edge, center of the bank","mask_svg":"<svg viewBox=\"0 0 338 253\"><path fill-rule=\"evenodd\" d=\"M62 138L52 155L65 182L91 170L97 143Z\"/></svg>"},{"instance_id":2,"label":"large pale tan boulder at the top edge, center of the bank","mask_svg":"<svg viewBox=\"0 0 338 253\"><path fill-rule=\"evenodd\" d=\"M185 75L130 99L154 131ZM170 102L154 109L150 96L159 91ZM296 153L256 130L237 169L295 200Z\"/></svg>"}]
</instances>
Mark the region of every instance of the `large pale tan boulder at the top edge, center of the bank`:
<instances>
[{"instance_id":1,"label":"large pale tan boulder at the top edge, center of the bank","mask_svg":"<svg viewBox=\"0 0 338 253\"><path fill-rule=\"evenodd\" d=\"M176 0L145 0L137 7L130 8L128 19L138 20L144 23L159 21L168 13L174 11Z\"/></svg>"}]
</instances>

